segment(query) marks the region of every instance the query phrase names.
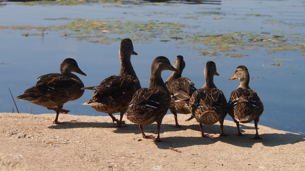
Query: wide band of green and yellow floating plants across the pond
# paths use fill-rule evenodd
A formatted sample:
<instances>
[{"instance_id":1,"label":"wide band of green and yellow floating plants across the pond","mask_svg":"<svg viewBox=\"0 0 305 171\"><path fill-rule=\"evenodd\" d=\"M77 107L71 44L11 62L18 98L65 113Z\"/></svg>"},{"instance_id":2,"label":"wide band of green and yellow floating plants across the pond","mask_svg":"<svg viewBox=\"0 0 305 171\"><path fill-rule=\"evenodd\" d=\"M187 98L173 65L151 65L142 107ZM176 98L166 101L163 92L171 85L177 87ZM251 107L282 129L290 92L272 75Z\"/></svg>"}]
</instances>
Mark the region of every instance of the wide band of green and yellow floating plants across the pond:
<instances>
[{"instance_id":1,"label":"wide band of green and yellow floating plants across the pond","mask_svg":"<svg viewBox=\"0 0 305 171\"><path fill-rule=\"evenodd\" d=\"M218 14L210 12L211 14ZM52 25L49 27L35 26L0 26L0 29L27 30L22 36L44 36L44 32L56 31L60 36L76 38L90 43L110 44L122 38L129 37L134 42L149 41L175 41L176 44L196 44L189 49L198 51L214 50L216 52L232 52L238 50L263 49L268 53L276 51L301 51L305 52L305 37L297 33L269 32L228 32L223 34L193 33L196 26L189 26L177 22L136 22L123 21L120 18L107 18L105 20L88 20L81 18L46 18L45 20L66 20L66 24ZM37 33L28 33L28 30ZM210 52L210 51L206 51ZM206 53L198 52L201 55ZM243 57L246 55L225 54L231 57Z\"/></svg>"}]
</instances>

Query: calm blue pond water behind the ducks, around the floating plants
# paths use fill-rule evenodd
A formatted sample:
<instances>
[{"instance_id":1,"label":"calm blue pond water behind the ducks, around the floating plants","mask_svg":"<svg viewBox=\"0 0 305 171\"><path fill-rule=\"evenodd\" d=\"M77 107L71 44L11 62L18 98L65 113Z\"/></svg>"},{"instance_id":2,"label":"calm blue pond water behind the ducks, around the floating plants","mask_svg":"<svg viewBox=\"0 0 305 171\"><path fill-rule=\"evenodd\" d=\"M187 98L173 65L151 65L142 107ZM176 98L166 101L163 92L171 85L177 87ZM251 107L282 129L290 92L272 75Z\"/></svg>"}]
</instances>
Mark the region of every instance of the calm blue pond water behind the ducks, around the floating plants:
<instances>
[{"instance_id":1,"label":"calm blue pond water behind the ducks, around the floating plants","mask_svg":"<svg viewBox=\"0 0 305 171\"><path fill-rule=\"evenodd\" d=\"M157 5L108 3L33 6L17 5L13 2L6 2L3 5L4 2L1 2L0 26L48 27L72 22L50 20L61 17L126 22L178 22L191 26L181 28L182 34L184 32L188 35L265 32L270 35L283 35L284 39L288 40L284 43L305 45L304 38L296 38L305 36L305 3L302 0L222 0L217 2L219 4L196 2L198 1L171 1ZM219 14L211 14L211 11ZM201 12L207 12L208 15L201 15ZM65 37L60 31L45 31L44 36L27 37L21 35L24 33L41 32L0 29L0 112L12 112L15 108L8 87L14 97L23 94L24 90L36 83L38 76L59 72L59 64L66 57L76 59L79 67L87 74L87 76L79 75L85 86L98 85L108 76L119 74L119 40L105 45ZM134 36L133 33L110 34L110 37L115 38L130 36ZM196 88L204 84L203 69L206 61L214 60L217 72L220 74L214 77L214 82L228 100L230 93L239 85L237 80L228 80L228 78L233 76L238 65L246 65L251 77L250 87L257 91L264 103L264 113L260 117L259 124L305 134L303 66L305 57L302 56L305 53L302 49L270 53L266 50L268 48L262 47L255 50L233 47L235 52L222 52L196 50L190 47L208 48L209 45L189 42L181 44L179 39L158 35L153 38L145 37L144 41L140 41L141 38L133 39L135 52L139 55L132 56L132 63L142 87L148 87L150 66L155 57L168 57L173 64L175 57L182 55L186 62L182 76L193 80ZM216 52L216 55L203 56L200 53L202 51ZM249 56L230 57L225 53L241 53ZM271 65L272 63L283 65L275 66ZM163 80L166 80L170 74L170 71L163 71ZM92 91L86 90L80 99L66 103L64 109L70 110L70 114L107 115L81 105L91 96ZM41 106L16 99L15 101L20 113L30 113L31 108L33 114L54 113ZM226 119L232 120L229 115Z\"/></svg>"}]
</instances>

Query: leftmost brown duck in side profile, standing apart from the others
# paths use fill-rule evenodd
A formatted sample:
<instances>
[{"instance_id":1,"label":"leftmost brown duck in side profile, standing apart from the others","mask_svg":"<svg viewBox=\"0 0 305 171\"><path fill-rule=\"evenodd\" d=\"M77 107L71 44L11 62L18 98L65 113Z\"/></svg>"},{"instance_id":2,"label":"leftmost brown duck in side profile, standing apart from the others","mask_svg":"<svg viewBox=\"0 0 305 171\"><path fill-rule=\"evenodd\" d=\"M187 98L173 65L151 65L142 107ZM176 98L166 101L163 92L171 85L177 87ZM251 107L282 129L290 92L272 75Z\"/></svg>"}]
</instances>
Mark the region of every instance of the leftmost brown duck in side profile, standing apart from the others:
<instances>
[{"instance_id":1,"label":"leftmost brown duck in side profile, standing apart from the others","mask_svg":"<svg viewBox=\"0 0 305 171\"><path fill-rule=\"evenodd\" d=\"M66 58L60 64L60 73L50 73L38 77L39 81L36 85L25 90L23 95L16 98L56 111L53 123L65 123L58 121L59 113L70 112L62 109L63 105L68 101L80 98L84 94L84 90L81 90L84 87L83 82L71 72L86 76L74 59Z\"/></svg>"}]
</instances>

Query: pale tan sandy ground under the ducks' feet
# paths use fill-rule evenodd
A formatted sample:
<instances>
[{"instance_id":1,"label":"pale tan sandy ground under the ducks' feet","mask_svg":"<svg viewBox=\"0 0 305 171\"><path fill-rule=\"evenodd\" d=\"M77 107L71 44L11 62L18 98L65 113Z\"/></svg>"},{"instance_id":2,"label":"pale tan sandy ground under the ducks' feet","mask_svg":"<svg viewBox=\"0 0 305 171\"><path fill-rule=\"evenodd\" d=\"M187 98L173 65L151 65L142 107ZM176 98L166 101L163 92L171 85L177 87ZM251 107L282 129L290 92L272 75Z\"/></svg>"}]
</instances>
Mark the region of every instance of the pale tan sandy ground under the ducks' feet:
<instances>
[{"instance_id":1,"label":"pale tan sandy ground under the ducks' feet","mask_svg":"<svg viewBox=\"0 0 305 171\"><path fill-rule=\"evenodd\" d=\"M196 120L178 114L182 128L170 127L165 115L154 143L142 138L139 126L124 116L126 126L114 127L110 116L0 113L0 171L305 171L305 136L259 125L262 140L253 140L254 124L225 120L204 125L211 138L200 137ZM116 115L118 117L118 115ZM156 136L156 124L144 126ZM176 149L177 151L171 150Z\"/></svg>"}]
</instances>

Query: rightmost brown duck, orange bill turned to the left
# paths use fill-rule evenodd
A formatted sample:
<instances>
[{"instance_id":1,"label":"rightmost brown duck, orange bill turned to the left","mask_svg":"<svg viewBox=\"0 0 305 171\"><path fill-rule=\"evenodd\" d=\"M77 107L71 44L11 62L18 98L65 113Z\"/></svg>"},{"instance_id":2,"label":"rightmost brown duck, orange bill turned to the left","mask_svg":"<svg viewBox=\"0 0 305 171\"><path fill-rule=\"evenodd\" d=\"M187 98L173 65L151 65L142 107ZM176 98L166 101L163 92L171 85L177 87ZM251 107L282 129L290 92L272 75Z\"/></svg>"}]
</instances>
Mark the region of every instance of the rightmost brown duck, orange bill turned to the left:
<instances>
[{"instance_id":1,"label":"rightmost brown duck, orange bill turned to the left","mask_svg":"<svg viewBox=\"0 0 305 171\"><path fill-rule=\"evenodd\" d=\"M228 113L236 122L237 135L243 135L239 130L239 122L248 123L254 120L256 134L253 139L262 139L258 134L257 123L264 111L264 106L257 93L249 87L250 75L247 67L244 65L238 66L233 77L229 80L233 79L239 79L240 85L237 90L231 93L228 102L231 108Z\"/></svg>"}]
</instances>

